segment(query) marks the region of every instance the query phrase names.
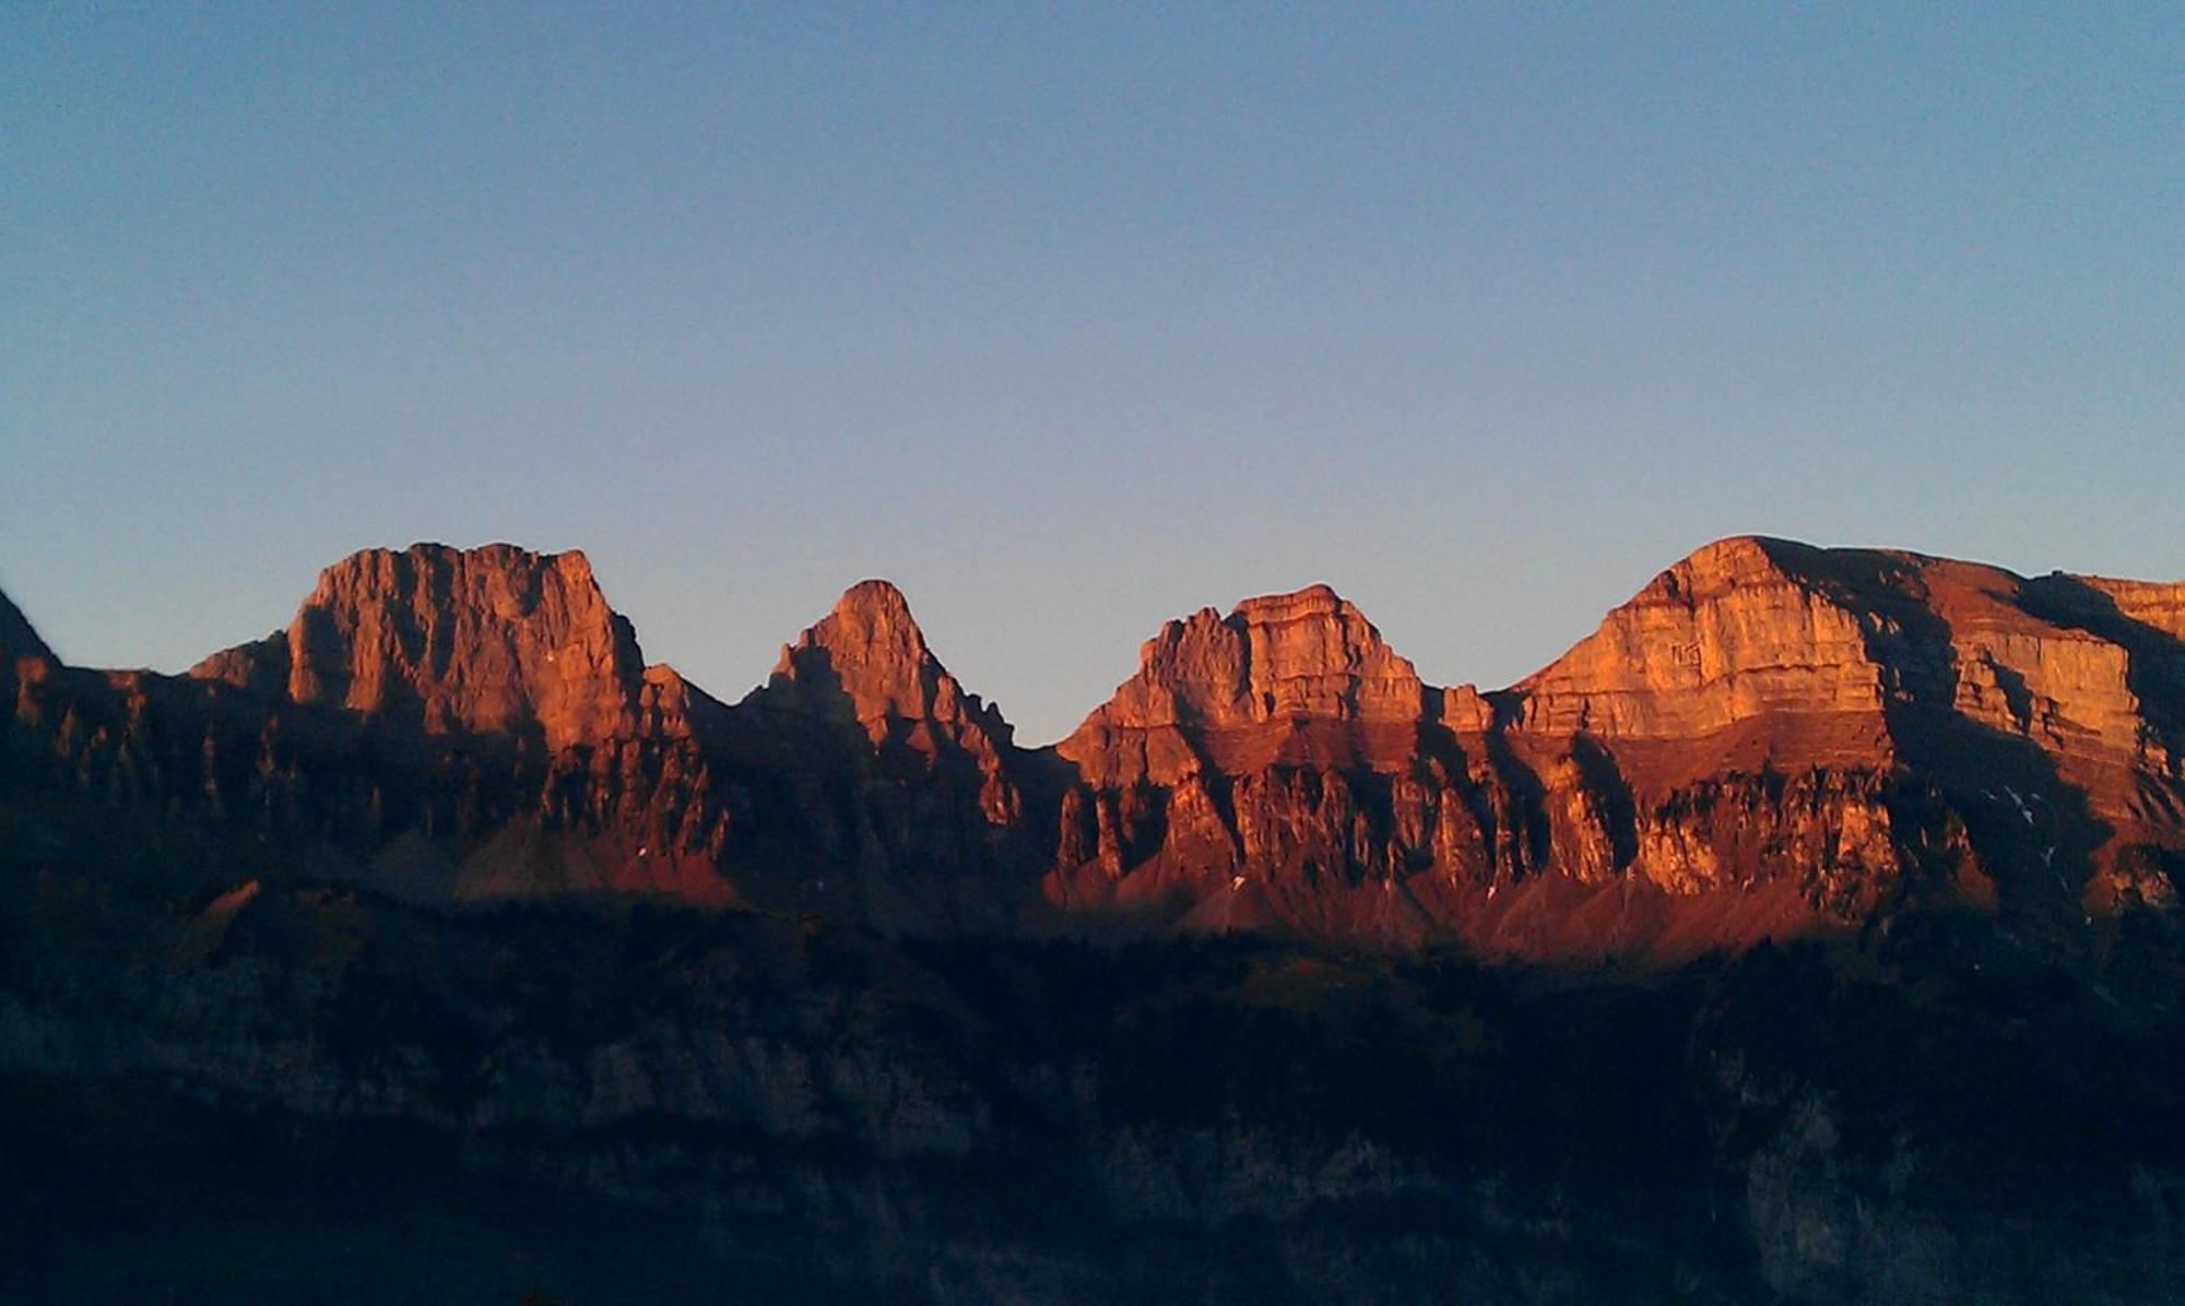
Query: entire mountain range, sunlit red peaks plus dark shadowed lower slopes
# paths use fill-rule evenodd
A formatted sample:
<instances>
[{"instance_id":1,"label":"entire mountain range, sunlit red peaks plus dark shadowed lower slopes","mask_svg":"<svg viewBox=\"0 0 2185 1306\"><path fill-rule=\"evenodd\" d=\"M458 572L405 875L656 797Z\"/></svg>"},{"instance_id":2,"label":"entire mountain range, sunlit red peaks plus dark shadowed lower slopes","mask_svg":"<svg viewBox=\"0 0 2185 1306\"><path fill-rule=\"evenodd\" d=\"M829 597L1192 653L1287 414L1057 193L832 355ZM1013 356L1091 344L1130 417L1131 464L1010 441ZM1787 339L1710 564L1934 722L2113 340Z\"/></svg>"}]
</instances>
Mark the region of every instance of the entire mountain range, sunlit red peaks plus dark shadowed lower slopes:
<instances>
[{"instance_id":1,"label":"entire mountain range, sunlit red peaks plus dark shadowed lower slopes","mask_svg":"<svg viewBox=\"0 0 2185 1306\"><path fill-rule=\"evenodd\" d=\"M1311 585L1020 747L885 581L728 703L417 544L0 703L7 1299L2185 1295L2185 583Z\"/></svg>"}]
</instances>

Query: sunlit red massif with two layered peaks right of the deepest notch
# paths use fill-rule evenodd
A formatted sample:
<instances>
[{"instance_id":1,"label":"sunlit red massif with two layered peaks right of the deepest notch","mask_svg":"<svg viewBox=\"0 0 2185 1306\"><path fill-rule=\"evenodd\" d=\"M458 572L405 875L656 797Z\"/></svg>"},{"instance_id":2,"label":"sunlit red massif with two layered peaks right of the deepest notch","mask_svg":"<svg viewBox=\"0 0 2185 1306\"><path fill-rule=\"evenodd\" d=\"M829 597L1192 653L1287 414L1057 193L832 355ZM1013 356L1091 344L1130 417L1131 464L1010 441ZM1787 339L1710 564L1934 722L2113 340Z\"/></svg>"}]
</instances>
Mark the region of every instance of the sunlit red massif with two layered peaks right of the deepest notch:
<instances>
[{"instance_id":1,"label":"sunlit red massif with two layered peaks right of the deepest notch","mask_svg":"<svg viewBox=\"0 0 2185 1306\"><path fill-rule=\"evenodd\" d=\"M1324 587L1202 612L1060 745L1047 895L1186 928L1689 952L1901 900L2168 900L2176 587L1737 537L1497 694Z\"/></svg>"}]
</instances>

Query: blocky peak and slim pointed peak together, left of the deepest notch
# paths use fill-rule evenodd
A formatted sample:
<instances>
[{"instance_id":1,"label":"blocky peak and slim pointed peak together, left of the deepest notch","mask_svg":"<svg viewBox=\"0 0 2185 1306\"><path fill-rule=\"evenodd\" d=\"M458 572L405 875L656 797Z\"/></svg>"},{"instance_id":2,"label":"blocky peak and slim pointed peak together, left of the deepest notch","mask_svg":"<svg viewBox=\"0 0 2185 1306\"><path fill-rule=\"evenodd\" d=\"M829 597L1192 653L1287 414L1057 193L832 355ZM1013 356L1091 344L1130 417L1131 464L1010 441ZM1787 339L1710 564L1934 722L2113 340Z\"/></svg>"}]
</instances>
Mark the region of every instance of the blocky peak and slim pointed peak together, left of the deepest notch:
<instances>
[{"instance_id":1,"label":"blocky peak and slim pointed peak together, left of the deepest notch","mask_svg":"<svg viewBox=\"0 0 2185 1306\"><path fill-rule=\"evenodd\" d=\"M1001 928L1020 753L885 583L730 708L645 668L581 555L361 553L186 677L24 662L24 780L310 841L406 902L664 893Z\"/></svg>"}]
</instances>

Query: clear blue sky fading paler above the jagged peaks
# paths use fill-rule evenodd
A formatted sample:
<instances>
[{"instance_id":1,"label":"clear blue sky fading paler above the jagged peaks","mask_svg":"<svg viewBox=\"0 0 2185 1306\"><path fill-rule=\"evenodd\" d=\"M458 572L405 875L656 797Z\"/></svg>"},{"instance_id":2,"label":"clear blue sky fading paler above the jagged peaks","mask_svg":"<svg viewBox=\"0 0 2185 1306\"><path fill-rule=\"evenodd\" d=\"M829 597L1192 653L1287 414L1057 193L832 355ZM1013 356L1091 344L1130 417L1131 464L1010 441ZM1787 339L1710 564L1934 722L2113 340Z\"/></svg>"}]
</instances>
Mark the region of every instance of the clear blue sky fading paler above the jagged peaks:
<instances>
[{"instance_id":1,"label":"clear blue sky fading paler above the jagged peaks","mask_svg":"<svg viewBox=\"0 0 2185 1306\"><path fill-rule=\"evenodd\" d=\"M1018 738L1333 583L1501 686L1731 533L2185 577L2185 7L0 7L0 587L181 670L583 548Z\"/></svg>"}]
</instances>

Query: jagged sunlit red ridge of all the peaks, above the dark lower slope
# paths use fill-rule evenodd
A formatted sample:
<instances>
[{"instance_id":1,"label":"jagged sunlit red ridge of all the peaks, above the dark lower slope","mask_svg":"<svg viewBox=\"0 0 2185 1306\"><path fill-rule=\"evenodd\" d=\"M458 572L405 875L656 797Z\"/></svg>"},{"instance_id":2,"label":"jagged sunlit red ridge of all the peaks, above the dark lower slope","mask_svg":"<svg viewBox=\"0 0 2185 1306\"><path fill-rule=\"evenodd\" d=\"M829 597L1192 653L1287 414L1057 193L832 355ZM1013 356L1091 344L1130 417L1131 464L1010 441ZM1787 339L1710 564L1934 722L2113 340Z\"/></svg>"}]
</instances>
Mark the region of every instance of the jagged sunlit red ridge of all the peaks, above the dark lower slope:
<instances>
[{"instance_id":1,"label":"jagged sunlit red ridge of all the peaks, above the dark lower slope","mask_svg":"<svg viewBox=\"0 0 2185 1306\"><path fill-rule=\"evenodd\" d=\"M367 550L179 677L0 601L11 786L413 904L671 895L887 933L1272 933L1676 961L1923 906L2069 937L2185 869L2185 585L1735 537L1532 677L1324 585L1171 620L1025 749L865 581L728 705L579 553Z\"/></svg>"}]
</instances>

